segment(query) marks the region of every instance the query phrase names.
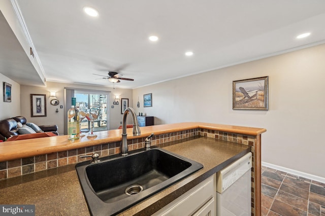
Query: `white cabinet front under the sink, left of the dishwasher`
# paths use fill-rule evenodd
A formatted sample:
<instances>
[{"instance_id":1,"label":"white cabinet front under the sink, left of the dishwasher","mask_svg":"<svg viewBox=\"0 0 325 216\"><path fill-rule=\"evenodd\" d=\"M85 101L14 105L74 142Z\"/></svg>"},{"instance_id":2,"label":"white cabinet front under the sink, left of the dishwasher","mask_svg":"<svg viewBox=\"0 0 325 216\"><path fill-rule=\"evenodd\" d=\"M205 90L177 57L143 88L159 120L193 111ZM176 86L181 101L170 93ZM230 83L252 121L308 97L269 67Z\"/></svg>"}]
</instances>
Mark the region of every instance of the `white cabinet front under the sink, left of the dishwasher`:
<instances>
[{"instance_id":1,"label":"white cabinet front under the sink, left of the dishwasher","mask_svg":"<svg viewBox=\"0 0 325 216\"><path fill-rule=\"evenodd\" d=\"M216 215L215 174L190 189L153 215Z\"/></svg>"}]
</instances>

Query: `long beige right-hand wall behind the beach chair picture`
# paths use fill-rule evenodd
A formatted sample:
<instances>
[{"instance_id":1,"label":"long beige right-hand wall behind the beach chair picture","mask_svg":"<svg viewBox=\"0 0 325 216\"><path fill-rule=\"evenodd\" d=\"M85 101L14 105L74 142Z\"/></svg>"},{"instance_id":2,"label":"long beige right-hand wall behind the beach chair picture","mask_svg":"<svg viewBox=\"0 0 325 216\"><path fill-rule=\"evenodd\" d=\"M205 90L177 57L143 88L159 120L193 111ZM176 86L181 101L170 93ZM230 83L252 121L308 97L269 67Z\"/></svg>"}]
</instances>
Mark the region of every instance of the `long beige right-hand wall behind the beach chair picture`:
<instances>
[{"instance_id":1,"label":"long beige right-hand wall behind the beach chair picture","mask_svg":"<svg viewBox=\"0 0 325 216\"><path fill-rule=\"evenodd\" d=\"M194 60L194 59L193 59ZM217 61L217 59L216 59ZM232 81L269 76L269 110L232 109ZM262 161L325 177L325 45L133 91L136 112L155 124L211 122L266 128ZM143 94L152 93L152 107Z\"/></svg>"}]
</instances>

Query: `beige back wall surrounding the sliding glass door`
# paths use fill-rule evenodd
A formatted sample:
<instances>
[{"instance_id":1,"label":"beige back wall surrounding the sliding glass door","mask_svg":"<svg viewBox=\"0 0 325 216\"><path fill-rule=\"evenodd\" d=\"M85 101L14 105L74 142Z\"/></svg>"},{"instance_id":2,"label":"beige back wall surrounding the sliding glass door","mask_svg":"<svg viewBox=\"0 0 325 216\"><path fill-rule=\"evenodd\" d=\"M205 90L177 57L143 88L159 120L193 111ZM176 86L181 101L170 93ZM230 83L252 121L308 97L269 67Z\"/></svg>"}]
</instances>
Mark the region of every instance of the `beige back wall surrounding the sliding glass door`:
<instances>
[{"instance_id":1,"label":"beige back wall surrounding the sliding glass door","mask_svg":"<svg viewBox=\"0 0 325 216\"><path fill-rule=\"evenodd\" d=\"M118 89L118 88L108 88L108 87L99 87L99 86L90 86L90 85L75 85L67 83L54 83L47 82L46 87L37 87L37 86L25 86L21 85L21 115L27 118L28 122L33 122L38 125L47 125L47 124L56 124L59 127L59 134L63 134L64 127L64 109L60 109L60 105L64 107L63 99L63 89L67 88L76 88L76 89L90 89L90 90L100 90L100 91L110 91L110 101L108 104L109 107L109 116L110 116L110 129L116 129L120 126L122 121L121 115L121 102L119 105L113 105L115 95L120 95L120 98L129 98L129 104L133 103L132 101L132 90L131 89ZM56 92L56 98L60 101L60 104L53 106L50 104L50 91ZM30 117L30 94L46 94L46 106L47 106L47 117ZM69 107L70 108L70 107ZM58 109L59 112L55 113L55 110ZM128 119L131 121L131 119ZM131 124L130 123L130 124Z\"/></svg>"}]
</instances>

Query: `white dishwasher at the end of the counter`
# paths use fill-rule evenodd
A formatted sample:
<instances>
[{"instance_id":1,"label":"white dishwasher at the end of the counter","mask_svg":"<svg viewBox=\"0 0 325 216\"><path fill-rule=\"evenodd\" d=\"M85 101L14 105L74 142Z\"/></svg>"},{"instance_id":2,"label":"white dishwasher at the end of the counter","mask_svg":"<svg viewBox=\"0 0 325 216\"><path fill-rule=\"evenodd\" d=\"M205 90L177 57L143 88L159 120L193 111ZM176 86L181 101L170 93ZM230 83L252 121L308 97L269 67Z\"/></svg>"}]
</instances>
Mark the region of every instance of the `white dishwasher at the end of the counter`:
<instances>
[{"instance_id":1,"label":"white dishwasher at the end of the counter","mask_svg":"<svg viewBox=\"0 0 325 216\"><path fill-rule=\"evenodd\" d=\"M251 215L251 165L248 153L217 172L217 216Z\"/></svg>"}]
</instances>

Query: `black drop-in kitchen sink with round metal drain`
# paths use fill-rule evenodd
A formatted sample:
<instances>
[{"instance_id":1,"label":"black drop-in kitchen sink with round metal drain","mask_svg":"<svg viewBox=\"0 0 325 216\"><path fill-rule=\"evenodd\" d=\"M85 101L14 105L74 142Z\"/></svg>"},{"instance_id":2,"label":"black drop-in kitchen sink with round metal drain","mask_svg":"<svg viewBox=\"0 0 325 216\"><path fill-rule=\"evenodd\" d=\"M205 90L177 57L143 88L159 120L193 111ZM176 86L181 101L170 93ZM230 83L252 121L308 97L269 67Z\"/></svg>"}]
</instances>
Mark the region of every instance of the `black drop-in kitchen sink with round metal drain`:
<instances>
[{"instance_id":1,"label":"black drop-in kitchen sink with round metal drain","mask_svg":"<svg viewBox=\"0 0 325 216\"><path fill-rule=\"evenodd\" d=\"M200 170L203 165L160 148L76 165L92 215L114 215Z\"/></svg>"}]
</instances>

